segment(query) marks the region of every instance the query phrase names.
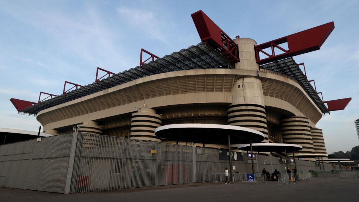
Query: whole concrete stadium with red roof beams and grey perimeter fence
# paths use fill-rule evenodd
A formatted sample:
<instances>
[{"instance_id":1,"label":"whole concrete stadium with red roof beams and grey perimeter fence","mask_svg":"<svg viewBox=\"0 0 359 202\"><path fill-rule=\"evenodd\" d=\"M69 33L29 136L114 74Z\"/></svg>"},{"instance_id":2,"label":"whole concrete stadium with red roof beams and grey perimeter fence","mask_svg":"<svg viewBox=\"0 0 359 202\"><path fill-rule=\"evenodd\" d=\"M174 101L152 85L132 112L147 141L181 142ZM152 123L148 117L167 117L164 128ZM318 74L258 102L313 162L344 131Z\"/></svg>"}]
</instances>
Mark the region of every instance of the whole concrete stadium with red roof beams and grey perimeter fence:
<instances>
[{"instance_id":1,"label":"whole concrete stadium with red roof beams and grey perimeter fence","mask_svg":"<svg viewBox=\"0 0 359 202\"><path fill-rule=\"evenodd\" d=\"M122 73L97 68L94 83L65 81L62 95L11 98L46 138L0 146L6 187L75 193L211 181L205 173L223 172L228 161L230 173L250 164L253 174L262 165L335 170L313 162L328 156L316 124L351 98L324 101L293 59L319 50L334 22L257 45L232 40L201 10L192 19L197 45L162 58L141 49L140 65ZM242 152L252 141L262 155Z\"/></svg>"}]
</instances>

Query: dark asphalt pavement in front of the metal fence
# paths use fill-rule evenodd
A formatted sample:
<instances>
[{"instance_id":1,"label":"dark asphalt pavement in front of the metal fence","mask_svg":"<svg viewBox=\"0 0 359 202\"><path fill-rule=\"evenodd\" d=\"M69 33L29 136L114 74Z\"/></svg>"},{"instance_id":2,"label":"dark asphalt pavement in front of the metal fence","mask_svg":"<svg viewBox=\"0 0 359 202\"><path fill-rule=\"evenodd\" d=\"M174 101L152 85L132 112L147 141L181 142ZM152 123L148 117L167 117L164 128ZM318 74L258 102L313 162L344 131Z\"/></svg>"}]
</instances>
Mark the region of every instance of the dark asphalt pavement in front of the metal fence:
<instances>
[{"instance_id":1,"label":"dark asphalt pavement in front of the metal fence","mask_svg":"<svg viewBox=\"0 0 359 202\"><path fill-rule=\"evenodd\" d=\"M276 186L276 182L208 184L194 183L102 192L57 194L22 189L0 188L0 201L358 201L359 179L317 177L311 181Z\"/></svg>"}]
</instances>

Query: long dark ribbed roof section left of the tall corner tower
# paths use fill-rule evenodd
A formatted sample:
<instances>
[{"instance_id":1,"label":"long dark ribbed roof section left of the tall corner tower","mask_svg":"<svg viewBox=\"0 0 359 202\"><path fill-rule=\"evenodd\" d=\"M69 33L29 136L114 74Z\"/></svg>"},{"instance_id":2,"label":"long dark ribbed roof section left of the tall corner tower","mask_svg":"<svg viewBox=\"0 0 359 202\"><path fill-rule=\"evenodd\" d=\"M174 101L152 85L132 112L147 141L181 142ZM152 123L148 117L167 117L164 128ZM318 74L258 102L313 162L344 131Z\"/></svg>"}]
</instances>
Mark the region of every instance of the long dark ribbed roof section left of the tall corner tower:
<instances>
[{"instance_id":1,"label":"long dark ribbed roof section left of the tall corner tower","mask_svg":"<svg viewBox=\"0 0 359 202\"><path fill-rule=\"evenodd\" d=\"M36 115L41 110L149 75L188 69L210 68L233 68L233 64L229 63L223 55L219 54L215 49L201 42L197 44L197 46L190 46L188 49L173 52L171 55L165 55L163 58L150 61L148 64L136 66L122 73L102 79L99 82L88 84L87 86L19 110L19 113Z\"/></svg>"}]
</instances>

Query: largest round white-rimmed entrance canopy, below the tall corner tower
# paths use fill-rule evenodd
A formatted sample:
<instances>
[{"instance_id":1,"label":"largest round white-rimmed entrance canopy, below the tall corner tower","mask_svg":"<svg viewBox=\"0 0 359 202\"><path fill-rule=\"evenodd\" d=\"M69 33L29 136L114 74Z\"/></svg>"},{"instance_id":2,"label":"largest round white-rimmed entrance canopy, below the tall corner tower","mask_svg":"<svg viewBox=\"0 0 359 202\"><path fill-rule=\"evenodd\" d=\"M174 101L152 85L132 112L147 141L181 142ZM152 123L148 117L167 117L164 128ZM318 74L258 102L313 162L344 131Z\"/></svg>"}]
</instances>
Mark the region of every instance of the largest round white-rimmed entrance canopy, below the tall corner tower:
<instances>
[{"instance_id":1,"label":"largest round white-rimmed entrance canopy, below the tall corner tower","mask_svg":"<svg viewBox=\"0 0 359 202\"><path fill-rule=\"evenodd\" d=\"M205 144L227 144L228 136L232 144L261 142L264 134L250 128L220 124L170 124L155 129L155 135L161 138L183 142Z\"/></svg>"}]
</instances>

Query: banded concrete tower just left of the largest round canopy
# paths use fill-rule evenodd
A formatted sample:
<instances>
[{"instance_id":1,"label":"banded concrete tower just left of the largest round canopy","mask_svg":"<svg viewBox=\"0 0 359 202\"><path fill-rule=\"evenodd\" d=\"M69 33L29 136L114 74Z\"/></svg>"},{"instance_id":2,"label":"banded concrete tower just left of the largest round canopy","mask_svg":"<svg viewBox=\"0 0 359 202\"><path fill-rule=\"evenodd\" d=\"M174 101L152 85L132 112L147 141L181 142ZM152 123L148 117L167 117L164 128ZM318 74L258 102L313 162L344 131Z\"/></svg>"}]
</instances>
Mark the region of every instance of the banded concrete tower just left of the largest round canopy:
<instances>
[{"instance_id":1,"label":"banded concrete tower just left of the largest round canopy","mask_svg":"<svg viewBox=\"0 0 359 202\"><path fill-rule=\"evenodd\" d=\"M132 114L131 134L132 139L142 139L161 142L161 139L155 136L155 129L162 124L161 115L156 114L154 109L139 109Z\"/></svg>"}]
</instances>

